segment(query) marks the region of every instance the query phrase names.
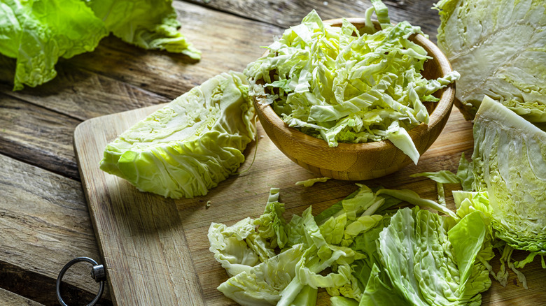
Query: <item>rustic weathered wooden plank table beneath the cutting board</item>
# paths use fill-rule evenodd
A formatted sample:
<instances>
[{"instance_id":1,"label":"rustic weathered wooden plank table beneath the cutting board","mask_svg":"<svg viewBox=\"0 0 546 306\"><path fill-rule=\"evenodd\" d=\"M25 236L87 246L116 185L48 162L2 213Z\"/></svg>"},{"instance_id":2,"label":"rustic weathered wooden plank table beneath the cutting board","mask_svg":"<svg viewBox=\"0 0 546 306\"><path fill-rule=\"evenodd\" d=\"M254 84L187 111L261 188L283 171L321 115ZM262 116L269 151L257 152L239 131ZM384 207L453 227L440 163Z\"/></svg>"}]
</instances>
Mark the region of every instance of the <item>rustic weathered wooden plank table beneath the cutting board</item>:
<instances>
[{"instance_id":1,"label":"rustic weathered wooden plank table beneath the cutting board","mask_svg":"<svg viewBox=\"0 0 546 306\"><path fill-rule=\"evenodd\" d=\"M435 41L440 21L430 9L434 1L385 2L393 22L409 20ZM183 24L181 31L202 50L201 61L141 50L110 36L94 52L61 59L56 66L57 78L51 82L12 92L15 61L0 57L0 304L58 305L55 280L63 265L78 256L102 261L73 149L78 124L92 117L165 103L218 73L242 71L262 54L260 46L298 24L311 8L323 19L363 17L370 3L197 0L174 1L173 5ZM434 198L433 182L411 179L409 174L456 170L461 152L468 156L472 152L471 127L454 110L444 133L421 157L419 166L408 166L377 182L386 187L413 188L423 197ZM283 201L291 207L289 212L300 213L309 204L306 199L324 208L354 189L353 182L329 181L328 188L337 190L335 198L302 191L293 182L313 175L290 165L280 152L275 156L276 163L290 167L290 175L274 168L276 173L267 174L268 184L281 187L281 198L285 193ZM253 167L248 175L264 175L267 162ZM234 180L230 178L226 184ZM255 192L255 198L265 202L267 192ZM202 261L221 269L211 255ZM493 267L498 269L496 259ZM546 303L545 270L535 262L523 272L528 276L528 290L520 288L512 274L506 289L493 282L483 295L484 304ZM79 301L83 305L94 297L98 286L88 274L89 266L83 264L67 273L69 285L63 295L69 304ZM120 301L119 297L113 299L111 292L111 288L106 289L100 305ZM230 303L218 292L207 294L217 305Z\"/></svg>"}]
</instances>

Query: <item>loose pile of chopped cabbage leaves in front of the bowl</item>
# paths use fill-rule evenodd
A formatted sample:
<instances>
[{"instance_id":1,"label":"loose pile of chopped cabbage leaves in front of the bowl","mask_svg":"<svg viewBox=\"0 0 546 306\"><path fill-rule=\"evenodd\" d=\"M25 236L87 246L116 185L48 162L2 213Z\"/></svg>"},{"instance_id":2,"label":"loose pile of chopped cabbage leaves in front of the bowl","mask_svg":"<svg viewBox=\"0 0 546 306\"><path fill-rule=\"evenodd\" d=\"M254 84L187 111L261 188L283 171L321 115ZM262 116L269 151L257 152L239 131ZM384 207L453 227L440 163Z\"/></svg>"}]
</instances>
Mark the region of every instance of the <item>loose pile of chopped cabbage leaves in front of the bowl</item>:
<instances>
[{"instance_id":1,"label":"loose pile of chopped cabbage leaves in front of the bowl","mask_svg":"<svg viewBox=\"0 0 546 306\"><path fill-rule=\"evenodd\" d=\"M315 305L318 288L332 305L478 305L491 285L491 214L471 196L442 217L388 210L402 198L446 212L409 191L360 185L316 217L309 207L288 223L278 197L272 189L258 219L209 229L211 252L230 275L218 290L241 305Z\"/></svg>"}]
</instances>

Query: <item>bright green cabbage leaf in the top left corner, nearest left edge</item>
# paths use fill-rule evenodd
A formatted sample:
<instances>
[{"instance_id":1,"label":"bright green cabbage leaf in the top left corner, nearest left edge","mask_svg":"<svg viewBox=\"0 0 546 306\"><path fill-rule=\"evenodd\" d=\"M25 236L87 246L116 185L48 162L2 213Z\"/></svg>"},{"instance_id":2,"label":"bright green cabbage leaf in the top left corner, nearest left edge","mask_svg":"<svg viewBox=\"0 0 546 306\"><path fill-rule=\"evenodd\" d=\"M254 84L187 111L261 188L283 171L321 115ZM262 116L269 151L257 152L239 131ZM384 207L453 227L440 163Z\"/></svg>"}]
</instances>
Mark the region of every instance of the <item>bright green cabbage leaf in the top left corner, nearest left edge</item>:
<instances>
[{"instance_id":1,"label":"bright green cabbage leaf in the top left corner, nearest left edge","mask_svg":"<svg viewBox=\"0 0 546 306\"><path fill-rule=\"evenodd\" d=\"M0 53L17 59L14 90L52 80L59 57L90 52L107 35L80 0L0 1Z\"/></svg>"}]
</instances>

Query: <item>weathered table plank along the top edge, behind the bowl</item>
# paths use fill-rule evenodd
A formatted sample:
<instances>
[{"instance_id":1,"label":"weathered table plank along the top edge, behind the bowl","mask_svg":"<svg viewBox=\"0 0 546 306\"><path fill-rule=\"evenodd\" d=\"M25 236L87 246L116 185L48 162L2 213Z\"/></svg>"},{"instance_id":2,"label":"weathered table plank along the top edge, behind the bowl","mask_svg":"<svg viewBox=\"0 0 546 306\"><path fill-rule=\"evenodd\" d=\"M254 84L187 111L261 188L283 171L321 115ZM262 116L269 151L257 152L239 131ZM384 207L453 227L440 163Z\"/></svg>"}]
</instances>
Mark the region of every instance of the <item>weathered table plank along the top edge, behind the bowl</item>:
<instances>
[{"instance_id":1,"label":"weathered table plank along the top edge, behind the bowl","mask_svg":"<svg viewBox=\"0 0 546 306\"><path fill-rule=\"evenodd\" d=\"M283 29L296 24L311 10L316 10L323 20L340 17L364 17L365 10L372 6L370 1L344 0L308 0L308 1L268 1L268 0L190 0L217 10L251 18L260 22L267 22ZM183 1L180 1L183 2ZM435 0L393 0L383 1L388 7L388 15L393 22L407 20L409 23L421 27L430 40L436 41L437 27L440 17L437 10L433 10Z\"/></svg>"}]
</instances>

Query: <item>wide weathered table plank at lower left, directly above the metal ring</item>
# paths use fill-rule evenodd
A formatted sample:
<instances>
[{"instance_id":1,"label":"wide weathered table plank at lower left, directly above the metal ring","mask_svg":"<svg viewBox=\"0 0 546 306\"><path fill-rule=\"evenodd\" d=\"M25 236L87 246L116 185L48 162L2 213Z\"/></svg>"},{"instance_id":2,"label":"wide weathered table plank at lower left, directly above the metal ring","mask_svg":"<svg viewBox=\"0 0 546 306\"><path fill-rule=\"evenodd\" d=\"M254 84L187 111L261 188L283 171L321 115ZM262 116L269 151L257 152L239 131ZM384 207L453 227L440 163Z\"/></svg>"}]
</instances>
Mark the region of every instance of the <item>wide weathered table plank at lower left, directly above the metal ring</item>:
<instances>
[{"instance_id":1,"label":"wide weathered table plank at lower left, directly above the metal ring","mask_svg":"<svg viewBox=\"0 0 546 306\"><path fill-rule=\"evenodd\" d=\"M0 154L0 192L0 287L31 292L25 287L35 282L37 289L52 289L37 295L54 300L67 262L78 256L100 261L80 182ZM64 280L80 292L98 289L89 266L74 265Z\"/></svg>"}]
</instances>

